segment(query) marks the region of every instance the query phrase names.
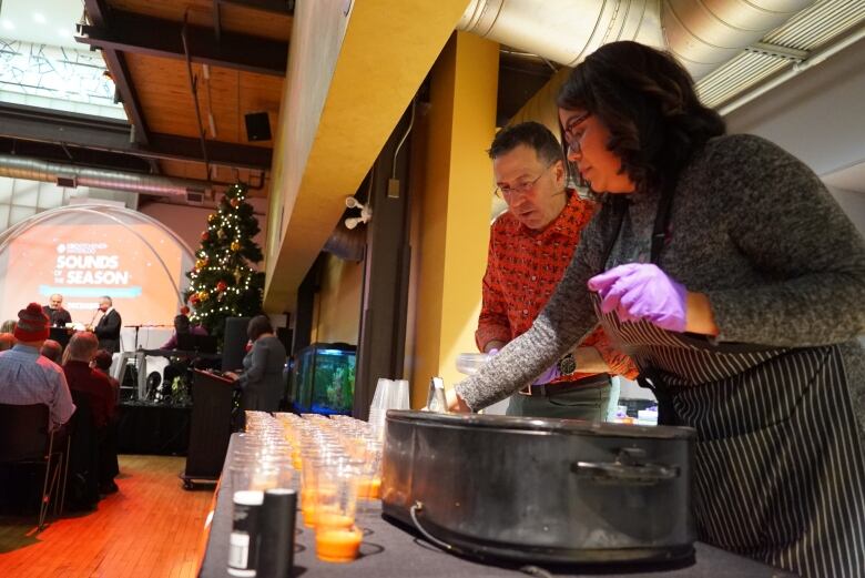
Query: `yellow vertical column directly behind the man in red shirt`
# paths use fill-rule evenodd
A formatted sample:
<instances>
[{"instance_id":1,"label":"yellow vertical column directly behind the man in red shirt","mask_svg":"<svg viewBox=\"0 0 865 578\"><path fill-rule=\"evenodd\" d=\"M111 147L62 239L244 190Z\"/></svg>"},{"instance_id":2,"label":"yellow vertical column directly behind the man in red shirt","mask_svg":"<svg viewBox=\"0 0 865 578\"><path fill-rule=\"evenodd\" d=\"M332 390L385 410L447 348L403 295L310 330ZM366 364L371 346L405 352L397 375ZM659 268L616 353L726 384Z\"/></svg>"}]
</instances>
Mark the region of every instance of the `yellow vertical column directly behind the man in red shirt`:
<instances>
[{"instance_id":1,"label":"yellow vertical column directly behind the man in red shirt","mask_svg":"<svg viewBox=\"0 0 865 578\"><path fill-rule=\"evenodd\" d=\"M430 107L415 135L424 154L415 162L414 332L406 365L415 407L426 402L431 376L452 385L464 377L456 356L476 351L493 186L486 150L496 131L498 48L464 32L450 38L432 68Z\"/></svg>"}]
</instances>

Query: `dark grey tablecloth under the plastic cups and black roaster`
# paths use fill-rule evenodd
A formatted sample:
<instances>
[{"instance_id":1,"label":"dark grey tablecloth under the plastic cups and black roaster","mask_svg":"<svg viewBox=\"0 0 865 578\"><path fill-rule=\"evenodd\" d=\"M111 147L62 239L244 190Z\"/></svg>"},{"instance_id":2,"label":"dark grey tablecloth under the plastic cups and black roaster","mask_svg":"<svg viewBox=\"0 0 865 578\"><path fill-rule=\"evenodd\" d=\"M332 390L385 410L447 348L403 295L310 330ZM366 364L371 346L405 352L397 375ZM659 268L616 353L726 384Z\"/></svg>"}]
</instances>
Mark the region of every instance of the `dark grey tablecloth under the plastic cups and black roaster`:
<instances>
[{"instance_id":1,"label":"dark grey tablecloth under the plastic cups and black roaster","mask_svg":"<svg viewBox=\"0 0 865 578\"><path fill-rule=\"evenodd\" d=\"M235 435L232 436L234 444ZM227 473L232 448L223 468ZM217 488L215 511L210 526L207 546L199 576L203 578L228 577L226 570L228 555L228 534L232 526L231 476L223 475ZM381 517L379 501L362 501L358 508L357 525L364 529L362 556L350 564L327 564L315 556L315 533L302 524L297 514L296 554L294 576L315 578L318 576L367 576L367 577L505 577L526 576L519 570L521 565L495 566L459 558L446 554L416 537L403 527ZM539 565L543 566L543 565ZM794 575L755 562L705 544L696 544L696 556L692 562L651 567L545 567L554 576L592 576L622 578L788 578ZM540 570L543 576L543 570ZM271 577L262 577L271 578Z\"/></svg>"}]
</instances>

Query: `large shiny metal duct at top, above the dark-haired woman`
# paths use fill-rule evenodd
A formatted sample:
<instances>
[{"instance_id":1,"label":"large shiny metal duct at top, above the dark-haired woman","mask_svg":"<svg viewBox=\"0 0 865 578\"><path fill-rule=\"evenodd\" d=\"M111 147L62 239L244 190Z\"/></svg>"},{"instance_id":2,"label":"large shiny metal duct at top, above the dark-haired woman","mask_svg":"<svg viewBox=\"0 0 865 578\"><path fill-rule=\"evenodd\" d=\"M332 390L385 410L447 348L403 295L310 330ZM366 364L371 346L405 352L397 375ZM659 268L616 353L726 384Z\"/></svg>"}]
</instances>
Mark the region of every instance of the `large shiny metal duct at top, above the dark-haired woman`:
<instances>
[{"instance_id":1,"label":"large shiny metal duct at top, above the dark-haired woman","mask_svg":"<svg viewBox=\"0 0 865 578\"><path fill-rule=\"evenodd\" d=\"M573 67L602 44L663 48L700 79L813 0L472 0L457 28Z\"/></svg>"}]
</instances>

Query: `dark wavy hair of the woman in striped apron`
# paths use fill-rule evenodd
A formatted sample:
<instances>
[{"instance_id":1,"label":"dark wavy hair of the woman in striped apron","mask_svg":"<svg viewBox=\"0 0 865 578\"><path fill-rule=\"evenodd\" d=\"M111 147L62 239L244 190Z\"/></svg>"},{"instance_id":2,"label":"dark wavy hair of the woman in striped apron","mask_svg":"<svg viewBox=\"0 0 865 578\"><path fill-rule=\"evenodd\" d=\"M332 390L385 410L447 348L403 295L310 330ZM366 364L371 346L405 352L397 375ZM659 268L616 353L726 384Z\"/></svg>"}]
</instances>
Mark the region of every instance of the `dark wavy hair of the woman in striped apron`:
<instances>
[{"instance_id":1,"label":"dark wavy hair of the woman in striped apron","mask_svg":"<svg viewBox=\"0 0 865 578\"><path fill-rule=\"evenodd\" d=\"M691 155L726 132L671 54L631 41L589 54L562 85L557 104L600 119L610 131L607 148L638 192L673 186Z\"/></svg>"}]
</instances>

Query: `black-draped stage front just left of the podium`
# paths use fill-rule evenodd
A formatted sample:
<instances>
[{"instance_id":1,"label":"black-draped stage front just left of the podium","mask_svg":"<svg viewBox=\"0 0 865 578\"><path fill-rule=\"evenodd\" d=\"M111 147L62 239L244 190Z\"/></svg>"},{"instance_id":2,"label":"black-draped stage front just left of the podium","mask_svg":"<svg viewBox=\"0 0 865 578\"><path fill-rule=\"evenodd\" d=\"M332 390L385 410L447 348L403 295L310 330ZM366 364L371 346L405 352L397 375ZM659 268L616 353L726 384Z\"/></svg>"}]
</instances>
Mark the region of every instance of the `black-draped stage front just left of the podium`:
<instances>
[{"instance_id":1,"label":"black-draped stage front just left of the podium","mask_svg":"<svg viewBox=\"0 0 865 578\"><path fill-rule=\"evenodd\" d=\"M186 455L192 406L132 402L119 412L119 454Z\"/></svg>"}]
</instances>

